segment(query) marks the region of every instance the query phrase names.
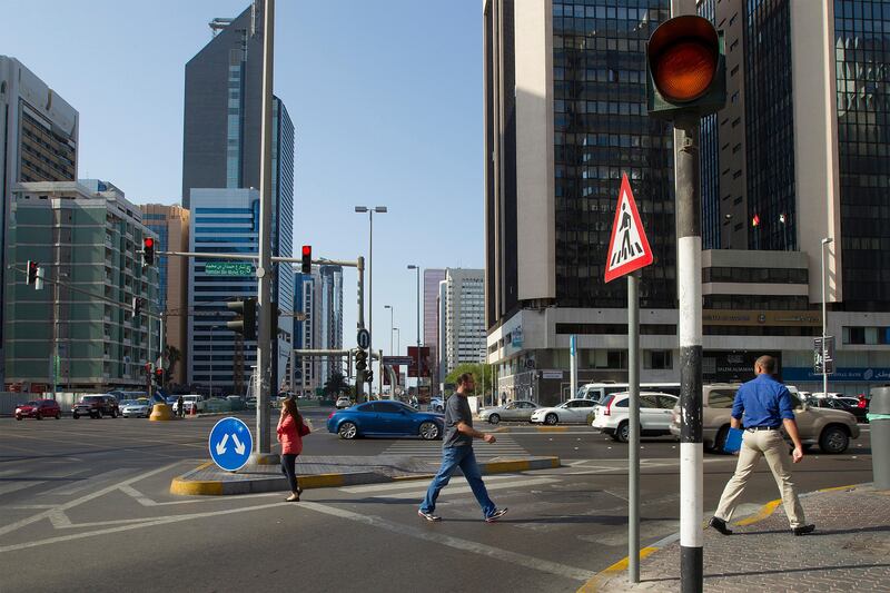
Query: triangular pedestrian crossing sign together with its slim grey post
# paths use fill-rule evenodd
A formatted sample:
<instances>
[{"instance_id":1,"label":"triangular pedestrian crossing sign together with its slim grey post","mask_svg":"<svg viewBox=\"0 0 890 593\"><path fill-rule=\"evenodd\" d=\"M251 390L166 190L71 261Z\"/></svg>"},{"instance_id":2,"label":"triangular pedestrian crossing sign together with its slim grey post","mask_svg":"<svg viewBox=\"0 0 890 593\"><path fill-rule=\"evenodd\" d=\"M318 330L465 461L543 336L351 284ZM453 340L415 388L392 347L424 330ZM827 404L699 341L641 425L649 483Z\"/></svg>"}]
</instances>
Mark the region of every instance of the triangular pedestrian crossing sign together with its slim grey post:
<instances>
[{"instance_id":1,"label":"triangular pedestrian crossing sign together with its slim grey post","mask_svg":"<svg viewBox=\"0 0 890 593\"><path fill-rule=\"evenodd\" d=\"M627 579L640 582L640 268L652 264L627 175L622 175L612 238L606 250L605 281L627 276ZM574 336L572 336L574 337ZM574 342L572 343L574 353ZM574 356L573 356L574 358Z\"/></svg>"}]
</instances>

